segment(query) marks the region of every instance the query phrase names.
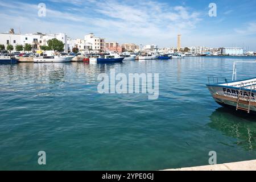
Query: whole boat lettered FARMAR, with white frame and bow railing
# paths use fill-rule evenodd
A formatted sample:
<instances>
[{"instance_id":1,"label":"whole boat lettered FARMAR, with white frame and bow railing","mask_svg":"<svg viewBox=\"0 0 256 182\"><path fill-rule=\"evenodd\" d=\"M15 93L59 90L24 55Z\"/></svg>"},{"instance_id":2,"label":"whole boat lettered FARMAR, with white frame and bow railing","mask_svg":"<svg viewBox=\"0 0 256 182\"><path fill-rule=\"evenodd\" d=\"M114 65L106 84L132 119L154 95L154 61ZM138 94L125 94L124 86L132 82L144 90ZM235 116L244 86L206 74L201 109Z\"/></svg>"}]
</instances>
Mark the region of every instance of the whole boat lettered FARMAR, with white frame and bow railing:
<instances>
[{"instance_id":1,"label":"whole boat lettered FARMAR, with white frame and bow railing","mask_svg":"<svg viewBox=\"0 0 256 182\"><path fill-rule=\"evenodd\" d=\"M225 79L225 82L219 83L219 78L208 77L207 87L213 99L221 106L256 113L256 77L237 81L237 63L256 63L256 61L235 61L232 81L228 82Z\"/></svg>"}]
</instances>

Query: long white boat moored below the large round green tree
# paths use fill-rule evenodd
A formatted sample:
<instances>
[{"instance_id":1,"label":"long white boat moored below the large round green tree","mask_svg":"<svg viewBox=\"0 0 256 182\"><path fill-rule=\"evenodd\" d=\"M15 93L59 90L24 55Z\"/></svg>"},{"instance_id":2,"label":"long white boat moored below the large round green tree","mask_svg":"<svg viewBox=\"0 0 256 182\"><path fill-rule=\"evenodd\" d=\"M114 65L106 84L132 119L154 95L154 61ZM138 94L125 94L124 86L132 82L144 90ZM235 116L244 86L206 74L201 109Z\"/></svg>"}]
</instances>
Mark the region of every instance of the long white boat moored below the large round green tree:
<instances>
[{"instance_id":1,"label":"long white boat moored below the large round green tree","mask_svg":"<svg viewBox=\"0 0 256 182\"><path fill-rule=\"evenodd\" d=\"M71 62L74 56L39 56L34 58L34 63L65 63Z\"/></svg>"}]
</instances>

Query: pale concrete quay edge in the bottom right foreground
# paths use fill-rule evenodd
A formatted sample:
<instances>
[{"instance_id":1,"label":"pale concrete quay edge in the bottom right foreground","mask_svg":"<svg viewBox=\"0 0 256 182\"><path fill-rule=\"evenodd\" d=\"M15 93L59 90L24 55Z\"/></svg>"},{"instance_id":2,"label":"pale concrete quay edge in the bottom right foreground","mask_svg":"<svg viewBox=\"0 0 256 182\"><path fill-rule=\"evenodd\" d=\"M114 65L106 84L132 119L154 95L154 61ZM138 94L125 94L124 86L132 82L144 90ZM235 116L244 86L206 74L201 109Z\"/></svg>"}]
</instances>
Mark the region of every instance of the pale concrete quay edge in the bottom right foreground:
<instances>
[{"instance_id":1,"label":"pale concrete quay edge in the bottom right foreground","mask_svg":"<svg viewBox=\"0 0 256 182\"><path fill-rule=\"evenodd\" d=\"M256 171L256 160L216 164L209 166L166 169L164 171Z\"/></svg>"}]
</instances>

